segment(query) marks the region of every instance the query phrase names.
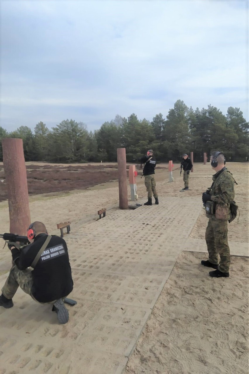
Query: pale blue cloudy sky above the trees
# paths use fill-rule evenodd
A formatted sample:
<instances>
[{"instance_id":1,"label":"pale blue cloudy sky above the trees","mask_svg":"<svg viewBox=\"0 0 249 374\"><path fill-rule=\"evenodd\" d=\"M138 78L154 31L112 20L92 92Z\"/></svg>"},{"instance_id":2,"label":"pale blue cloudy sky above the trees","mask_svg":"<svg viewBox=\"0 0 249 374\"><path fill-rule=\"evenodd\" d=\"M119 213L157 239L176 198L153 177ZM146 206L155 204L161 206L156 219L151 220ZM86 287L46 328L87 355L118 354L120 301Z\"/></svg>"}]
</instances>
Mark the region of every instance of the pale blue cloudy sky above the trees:
<instances>
[{"instance_id":1,"label":"pale blue cloudy sky above the trees","mask_svg":"<svg viewBox=\"0 0 249 374\"><path fill-rule=\"evenodd\" d=\"M1 0L1 126L248 109L248 1Z\"/></svg>"}]
</instances>

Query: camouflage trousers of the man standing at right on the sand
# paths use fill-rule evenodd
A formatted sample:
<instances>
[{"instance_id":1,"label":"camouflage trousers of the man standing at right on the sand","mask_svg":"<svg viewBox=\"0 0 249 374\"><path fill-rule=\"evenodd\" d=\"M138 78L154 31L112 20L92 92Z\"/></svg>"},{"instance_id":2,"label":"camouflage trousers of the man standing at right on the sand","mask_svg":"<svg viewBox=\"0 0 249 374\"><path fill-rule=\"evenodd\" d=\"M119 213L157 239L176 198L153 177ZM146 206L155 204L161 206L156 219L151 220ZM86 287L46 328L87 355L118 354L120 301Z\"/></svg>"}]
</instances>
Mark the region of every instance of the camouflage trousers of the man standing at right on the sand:
<instances>
[{"instance_id":1,"label":"camouflage trousers of the man standing at right on the sand","mask_svg":"<svg viewBox=\"0 0 249 374\"><path fill-rule=\"evenodd\" d=\"M217 220L215 217L209 218L205 235L209 253L208 260L212 264L219 264L219 270L222 273L229 273L230 266L227 233L227 221ZM220 255L220 263L218 254Z\"/></svg>"}]
</instances>

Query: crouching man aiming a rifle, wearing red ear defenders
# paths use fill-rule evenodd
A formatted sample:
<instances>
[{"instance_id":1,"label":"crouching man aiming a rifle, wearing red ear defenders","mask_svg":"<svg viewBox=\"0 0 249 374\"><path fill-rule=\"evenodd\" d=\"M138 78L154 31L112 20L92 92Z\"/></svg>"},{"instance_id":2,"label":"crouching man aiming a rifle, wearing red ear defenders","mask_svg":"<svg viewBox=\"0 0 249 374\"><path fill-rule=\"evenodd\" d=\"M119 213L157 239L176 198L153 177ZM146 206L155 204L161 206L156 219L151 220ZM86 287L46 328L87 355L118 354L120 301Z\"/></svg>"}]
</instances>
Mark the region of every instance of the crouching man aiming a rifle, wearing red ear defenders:
<instances>
[{"instance_id":1,"label":"crouching man aiming a rifle, wearing red ear defenders","mask_svg":"<svg viewBox=\"0 0 249 374\"><path fill-rule=\"evenodd\" d=\"M0 306L13 307L12 298L20 286L38 303L52 303L60 324L68 322L63 300L74 283L65 240L48 235L45 225L38 221L28 227L27 237L7 233L0 236L12 254L12 268L1 290Z\"/></svg>"}]
</instances>

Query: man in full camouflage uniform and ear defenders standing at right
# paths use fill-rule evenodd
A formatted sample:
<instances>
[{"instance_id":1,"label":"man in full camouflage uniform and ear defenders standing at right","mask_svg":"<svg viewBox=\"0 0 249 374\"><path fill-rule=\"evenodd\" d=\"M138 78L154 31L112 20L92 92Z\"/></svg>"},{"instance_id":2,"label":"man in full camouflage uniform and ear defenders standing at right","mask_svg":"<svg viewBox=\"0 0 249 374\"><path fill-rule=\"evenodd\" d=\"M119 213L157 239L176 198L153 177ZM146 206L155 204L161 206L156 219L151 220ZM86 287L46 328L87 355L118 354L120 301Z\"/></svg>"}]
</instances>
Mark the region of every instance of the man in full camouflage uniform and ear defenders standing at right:
<instances>
[{"instance_id":1,"label":"man in full camouflage uniform and ear defenders standing at right","mask_svg":"<svg viewBox=\"0 0 249 374\"><path fill-rule=\"evenodd\" d=\"M206 206L206 215L209 218L206 228L206 244L208 248L208 260L202 260L203 266L212 267L215 271L209 272L211 277L229 277L230 249L227 238L227 221L230 220L230 203L234 199L234 178L225 168L225 157L221 152L215 152L211 156L211 166L216 174L213 175L213 183L202 195L202 201ZM214 202L214 212L207 212L207 202ZM212 203L211 203L212 205ZM219 219L220 209L223 216ZM220 263L218 260L220 255Z\"/></svg>"}]
</instances>

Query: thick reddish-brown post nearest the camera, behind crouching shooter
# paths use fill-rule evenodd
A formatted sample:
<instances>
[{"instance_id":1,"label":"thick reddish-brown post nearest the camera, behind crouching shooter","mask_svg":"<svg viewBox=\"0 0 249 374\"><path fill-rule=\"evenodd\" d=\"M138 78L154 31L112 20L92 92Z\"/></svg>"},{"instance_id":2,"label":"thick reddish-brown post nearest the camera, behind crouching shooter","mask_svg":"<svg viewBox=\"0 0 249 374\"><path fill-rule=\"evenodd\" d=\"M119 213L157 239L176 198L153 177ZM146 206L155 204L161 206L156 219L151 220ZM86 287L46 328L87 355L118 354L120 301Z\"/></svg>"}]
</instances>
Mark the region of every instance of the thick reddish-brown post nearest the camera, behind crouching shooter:
<instances>
[{"instance_id":1,"label":"thick reddish-brown post nearest the camera, behind crouching shooter","mask_svg":"<svg viewBox=\"0 0 249 374\"><path fill-rule=\"evenodd\" d=\"M30 212L22 139L2 139L2 148L8 189L10 233L26 236Z\"/></svg>"}]
</instances>

